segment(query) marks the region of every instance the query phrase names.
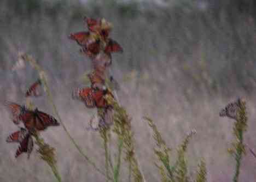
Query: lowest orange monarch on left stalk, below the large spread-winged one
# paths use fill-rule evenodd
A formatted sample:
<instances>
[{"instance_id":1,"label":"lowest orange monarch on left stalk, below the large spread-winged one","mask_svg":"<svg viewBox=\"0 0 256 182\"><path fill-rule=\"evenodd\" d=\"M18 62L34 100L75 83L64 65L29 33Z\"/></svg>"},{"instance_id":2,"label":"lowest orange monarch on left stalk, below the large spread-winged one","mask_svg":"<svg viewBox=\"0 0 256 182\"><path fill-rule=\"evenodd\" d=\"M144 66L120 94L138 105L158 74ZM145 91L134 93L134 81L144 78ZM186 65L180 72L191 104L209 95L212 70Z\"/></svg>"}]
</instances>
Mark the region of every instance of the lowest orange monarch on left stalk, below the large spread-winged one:
<instances>
[{"instance_id":1,"label":"lowest orange monarch on left stalk, below the large spread-winged one","mask_svg":"<svg viewBox=\"0 0 256 182\"><path fill-rule=\"evenodd\" d=\"M20 128L19 131L16 131L10 134L6 139L6 142L20 143L20 146L15 153L16 158L22 153L27 153L28 155L27 157L28 158L30 157L30 154L33 150L34 143L33 143L32 135L28 130L24 128Z\"/></svg>"}]
</instances>

